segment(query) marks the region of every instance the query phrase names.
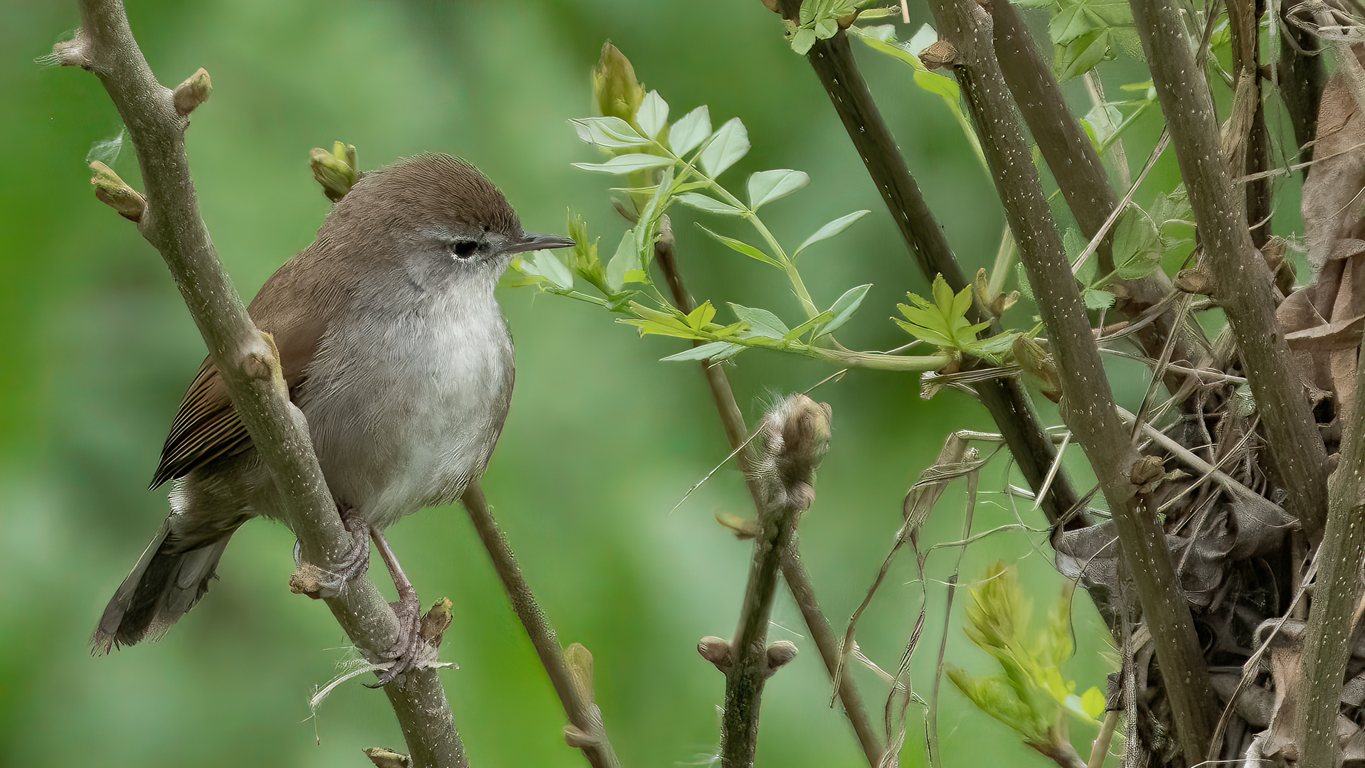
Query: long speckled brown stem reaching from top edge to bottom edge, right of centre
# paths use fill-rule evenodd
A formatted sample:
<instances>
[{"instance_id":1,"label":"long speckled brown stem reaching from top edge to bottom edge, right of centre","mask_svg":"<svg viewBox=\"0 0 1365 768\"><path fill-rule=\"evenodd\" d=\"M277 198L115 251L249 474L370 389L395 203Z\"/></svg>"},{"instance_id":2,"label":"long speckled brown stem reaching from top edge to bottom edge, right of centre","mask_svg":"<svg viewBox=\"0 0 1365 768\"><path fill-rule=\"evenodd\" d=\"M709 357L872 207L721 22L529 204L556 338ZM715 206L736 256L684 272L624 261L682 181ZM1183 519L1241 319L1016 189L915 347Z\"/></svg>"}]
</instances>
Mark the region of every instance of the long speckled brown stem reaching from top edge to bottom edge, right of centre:
<instances>
[{"instance_id":1,"label":"long speckled brown stem reaching from top edge to bottom edge, right of centre","mask_svg":"<svg viewBox=\"0 0 1365 768\"><path fill-rule=\"evenodd\" d=\"M1129 476L1138 454L1115 409L1062 239L1014 119L994 53L991 19L971 0L930 0L930 10L939 34L956 49L954 71L1057 355L1062 416L1085 449L1114 516L1158 662L1167 670L1163 681L1181 752L1193 765L1204 758L1212 733L1209 713L1218 703L1164 532L1140 503Z\"/></svg>"}]
</instances>

